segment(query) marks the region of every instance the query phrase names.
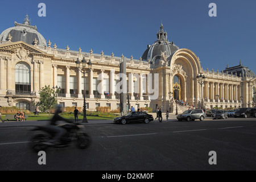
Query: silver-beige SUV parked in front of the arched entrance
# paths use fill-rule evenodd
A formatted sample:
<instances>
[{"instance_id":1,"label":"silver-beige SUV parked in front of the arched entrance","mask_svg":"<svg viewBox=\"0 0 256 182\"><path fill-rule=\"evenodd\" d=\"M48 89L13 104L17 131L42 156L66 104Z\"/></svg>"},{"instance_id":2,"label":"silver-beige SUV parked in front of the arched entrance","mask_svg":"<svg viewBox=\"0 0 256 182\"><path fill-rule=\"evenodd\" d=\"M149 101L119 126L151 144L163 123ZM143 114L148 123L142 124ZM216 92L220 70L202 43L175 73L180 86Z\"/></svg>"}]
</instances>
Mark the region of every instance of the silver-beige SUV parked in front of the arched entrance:
<instances>
[{"instance_id":1,"label":"silver-beige SUV parked in front of the arched entrance","mask_svg":"<svg viewBox=\"0 0 256 182\"><path fill-rule=\"evenodd\" d=\"M202 109L195 110L186 110L182 114L178 114L176 117L179 121L195 121L195 119L200 119L200 121L204 121L205 112Z\"/></svg>"}]
</instances>

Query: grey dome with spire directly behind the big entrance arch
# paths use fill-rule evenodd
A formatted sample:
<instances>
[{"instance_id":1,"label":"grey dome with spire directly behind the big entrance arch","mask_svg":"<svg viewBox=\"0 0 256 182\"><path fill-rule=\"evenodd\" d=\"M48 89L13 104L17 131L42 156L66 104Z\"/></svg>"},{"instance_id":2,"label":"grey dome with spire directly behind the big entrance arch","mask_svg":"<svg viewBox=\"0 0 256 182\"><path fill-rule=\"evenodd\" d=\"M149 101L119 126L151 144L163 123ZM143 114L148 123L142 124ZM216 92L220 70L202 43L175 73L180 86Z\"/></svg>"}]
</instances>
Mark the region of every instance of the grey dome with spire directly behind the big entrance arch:
<instances>
[{"instance_id":1,"label":"grey dome with spire directly behind the big entrance arch","mask_svg":"<svg viewBox=\"0 0 256 182\"><path fill-rule=\"evenodd\" d=\"M142 55L142 60L150 60L151 63L157 64L161 53L164 52L167 57L172 55L179 49L173 42L167 40L167 32L163 30L163 24L160 26L160 31L156 34L157 39L151 46L148 45L146 51Z\"/></svg>"}]
</instances>

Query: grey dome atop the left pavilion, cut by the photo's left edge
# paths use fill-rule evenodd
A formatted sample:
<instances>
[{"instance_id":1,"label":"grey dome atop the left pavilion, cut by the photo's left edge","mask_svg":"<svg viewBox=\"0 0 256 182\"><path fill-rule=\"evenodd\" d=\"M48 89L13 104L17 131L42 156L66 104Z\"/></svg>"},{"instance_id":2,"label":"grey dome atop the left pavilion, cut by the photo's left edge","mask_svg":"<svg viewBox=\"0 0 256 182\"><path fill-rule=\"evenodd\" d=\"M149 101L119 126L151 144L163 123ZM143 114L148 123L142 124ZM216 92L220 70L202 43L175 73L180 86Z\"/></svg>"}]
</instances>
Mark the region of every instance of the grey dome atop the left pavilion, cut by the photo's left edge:
<instances>
[{"instance_id":1,"label":"grey dome atop the left pavilion, cut by the photo's left edge","mask_svg":"<svg viewBox=\"0 0 256 182\"><path fill-rule=\"evenodd\" d=\"M23 24L14 22L15 27L6 29L0 34L0 41L7 42L11 37L11 42L23 41L33 45L34 40L38 40L37 45L40 47L47 47L46 39L38 32L36 26L30 25L28 15L23 21ZM9 36L10 35L10 36Z\"/></svg>"}]
</instances>

